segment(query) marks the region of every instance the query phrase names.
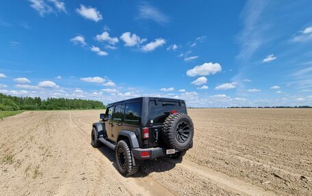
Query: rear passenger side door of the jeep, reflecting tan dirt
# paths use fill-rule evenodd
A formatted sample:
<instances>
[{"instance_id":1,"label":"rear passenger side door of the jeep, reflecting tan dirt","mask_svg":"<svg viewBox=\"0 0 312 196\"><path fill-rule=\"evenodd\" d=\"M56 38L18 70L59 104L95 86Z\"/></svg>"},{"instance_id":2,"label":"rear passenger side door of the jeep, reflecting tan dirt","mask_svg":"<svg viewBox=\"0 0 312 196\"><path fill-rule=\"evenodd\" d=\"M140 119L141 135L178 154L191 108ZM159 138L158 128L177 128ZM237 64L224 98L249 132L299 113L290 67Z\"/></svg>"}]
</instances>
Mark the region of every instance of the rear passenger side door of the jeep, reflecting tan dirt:
<instances>
[{"instance_id":1,"label":"rear passenger side door of the jeep, reflecting tan dirt","mask_svg":"<svg viewBox=\"0 0 312 196\"><path fill-rule=\"evenodd\" d=\"M122 116L124 111L124 104L118 103L114 105L114 113L112 118L112 140L117 141L118 132L122 128Z\"/></svg>"}]
</instances>

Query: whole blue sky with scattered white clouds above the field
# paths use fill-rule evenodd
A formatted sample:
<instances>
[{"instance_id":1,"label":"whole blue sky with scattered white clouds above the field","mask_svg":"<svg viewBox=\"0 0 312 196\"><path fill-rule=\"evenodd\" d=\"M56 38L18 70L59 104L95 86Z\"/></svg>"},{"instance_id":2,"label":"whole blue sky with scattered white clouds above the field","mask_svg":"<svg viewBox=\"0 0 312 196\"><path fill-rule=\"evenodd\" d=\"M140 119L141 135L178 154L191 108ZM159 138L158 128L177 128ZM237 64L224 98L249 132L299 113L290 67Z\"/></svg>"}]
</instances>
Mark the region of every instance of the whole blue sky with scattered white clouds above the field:
<instances>
[{"instance_id":1,"label":"whole blue sky with scattered white clouds above the field","mask_svg":"<svg viewBox=\"0 0 312 196\"><path fill-rule=\"evenodd\" d=\"M312 1L0 1L0 92L312 105Z\"/></svg>"}]
</instances>

